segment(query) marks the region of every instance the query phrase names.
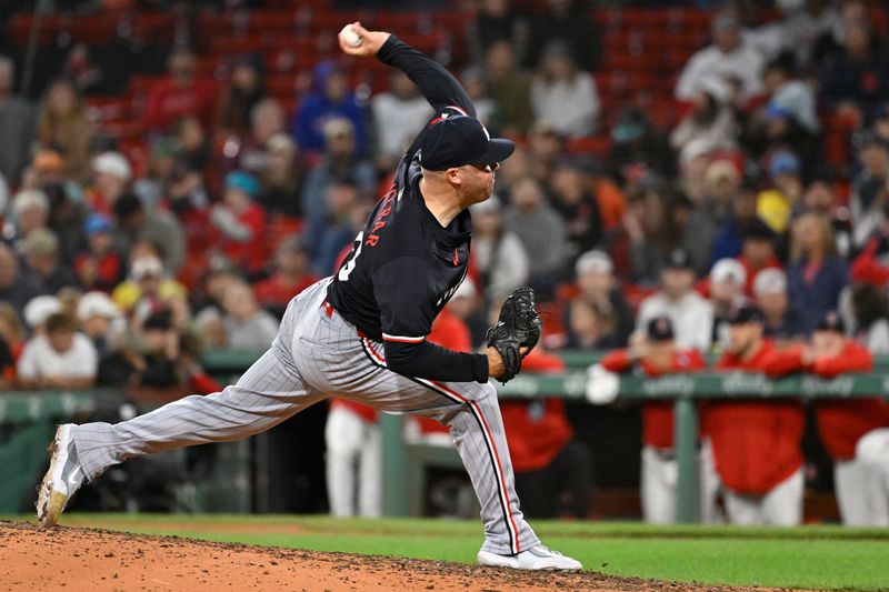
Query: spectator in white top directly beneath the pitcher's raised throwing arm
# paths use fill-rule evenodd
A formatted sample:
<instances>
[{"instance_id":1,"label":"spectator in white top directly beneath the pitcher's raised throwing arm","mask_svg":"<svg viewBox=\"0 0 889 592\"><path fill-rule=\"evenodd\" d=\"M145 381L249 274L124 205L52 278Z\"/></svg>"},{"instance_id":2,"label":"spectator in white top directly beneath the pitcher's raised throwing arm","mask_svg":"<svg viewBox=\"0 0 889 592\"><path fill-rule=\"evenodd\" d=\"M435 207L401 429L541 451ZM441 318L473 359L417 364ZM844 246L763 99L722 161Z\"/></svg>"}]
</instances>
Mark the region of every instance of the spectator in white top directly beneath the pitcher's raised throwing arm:
<instances>
[{"instance_id":1,"label":"spectator in white top directly beneath the pitcher's raised throwing arm","mask_svg":"<svg viewBox=\"0 0 889 592\"><path fill-rule=\"evenodd\" d=\"M417 84L398 69L393 69L389 77L389 90L371 99L370 110L377 144L377 169L392 170L431 119L432 110Z\"/></svg>"}]
</instances>

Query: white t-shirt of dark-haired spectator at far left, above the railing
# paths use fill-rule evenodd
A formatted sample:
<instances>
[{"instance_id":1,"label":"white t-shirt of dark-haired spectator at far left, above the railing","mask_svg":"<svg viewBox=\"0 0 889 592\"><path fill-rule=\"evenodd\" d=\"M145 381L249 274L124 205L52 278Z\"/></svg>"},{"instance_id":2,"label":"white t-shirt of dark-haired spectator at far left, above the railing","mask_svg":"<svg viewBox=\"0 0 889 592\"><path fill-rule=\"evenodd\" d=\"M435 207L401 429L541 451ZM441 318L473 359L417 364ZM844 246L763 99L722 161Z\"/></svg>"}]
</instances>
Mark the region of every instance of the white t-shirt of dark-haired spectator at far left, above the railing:
<instances>
[{"instance_id":1,"label":"white t-shirt of dark-haired spectator at far left, above the railing","mask_svg":"<svg viewBox=\"0 0 889 592\"><path fill-rule=\"evenodd\" d=\"M90 339L74 333L71 349L59 353L52 349L49 339L42 335L31 338L21 352L17 372L23 379L42 378L94 378L99 369L99 354Z\"/></svg>"}]
</instances>

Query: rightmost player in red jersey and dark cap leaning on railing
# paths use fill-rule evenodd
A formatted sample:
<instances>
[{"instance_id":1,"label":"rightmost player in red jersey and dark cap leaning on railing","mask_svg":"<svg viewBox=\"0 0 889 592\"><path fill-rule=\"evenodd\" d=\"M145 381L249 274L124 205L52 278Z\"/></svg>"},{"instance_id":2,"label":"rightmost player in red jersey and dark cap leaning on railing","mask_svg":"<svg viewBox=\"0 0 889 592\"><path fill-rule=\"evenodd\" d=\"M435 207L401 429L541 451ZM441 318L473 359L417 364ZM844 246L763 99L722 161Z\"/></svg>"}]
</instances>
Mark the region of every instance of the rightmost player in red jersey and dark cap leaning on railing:
<instances>
[{"instance_id":1,"label":"rightmost player in red jersey and dark cap leaning on railing","mask_svg":"<svg viewBox=\"0 0 889 592\"><path fill-rule=\"evenodd\" d=\"M823 379L840 374L870 372L872 354L846 338L839 314L828 312L818 323L811 341L786 352L775 353L768 364L773 377L805 370ZM867 466L856 458L856 444L871 430L889 428L889 403L882 399L845 399L815 402L818 433L833 461L837 505L847 526L881 526L870 512Z\"/></svg>"}]
</instances>

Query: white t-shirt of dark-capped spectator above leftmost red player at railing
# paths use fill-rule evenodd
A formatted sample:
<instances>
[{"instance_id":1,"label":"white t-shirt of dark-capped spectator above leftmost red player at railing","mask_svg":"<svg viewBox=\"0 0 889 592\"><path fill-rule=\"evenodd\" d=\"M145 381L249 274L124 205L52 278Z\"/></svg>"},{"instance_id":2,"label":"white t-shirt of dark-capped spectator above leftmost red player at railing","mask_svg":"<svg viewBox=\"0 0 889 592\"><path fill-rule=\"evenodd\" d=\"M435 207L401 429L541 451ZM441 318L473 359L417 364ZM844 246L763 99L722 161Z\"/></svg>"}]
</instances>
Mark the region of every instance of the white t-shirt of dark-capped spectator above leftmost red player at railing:
<instances>
[{"instance_id":1,"label":"white t-shirt of dark-capped spectator above leftmost red player at railing","mask_svg":"<svg viewBox=\"0 0 889 592\"><path fill-rule=\"evenodd\" d=\"M663 292L658 292L645 299L639 305L637 330L645 332L648 329L648 321L662 315L669 317L673 323L678 348L696 348L702 353L710 350L713 305L709 300L705 300L695 291L679 300L670 300Z\"/></svg>"}]
</instances>

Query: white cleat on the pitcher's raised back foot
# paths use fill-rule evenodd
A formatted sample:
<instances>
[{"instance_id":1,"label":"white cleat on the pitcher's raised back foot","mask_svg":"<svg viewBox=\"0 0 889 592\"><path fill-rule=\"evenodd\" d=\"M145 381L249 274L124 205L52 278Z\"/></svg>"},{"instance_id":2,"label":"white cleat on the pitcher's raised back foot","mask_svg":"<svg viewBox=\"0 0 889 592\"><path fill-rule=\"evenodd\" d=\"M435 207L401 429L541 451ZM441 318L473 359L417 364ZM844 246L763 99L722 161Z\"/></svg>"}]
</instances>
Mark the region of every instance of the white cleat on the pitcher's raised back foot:
<instances>
[{"instance_id":1,"label":"white cleat on the pitcher's raised back foot","mask_svg":"<svg viewBox=\"0 0 889 592\"><path fill-rule=\"evenodd\" d=\"M49 445L49 471L38 488L37 520L41 526L54 526L71 495L83 483L83 470L77 462L77 449L71 440L73 423L59 425Z\"/></svg>"}]
</instances>

